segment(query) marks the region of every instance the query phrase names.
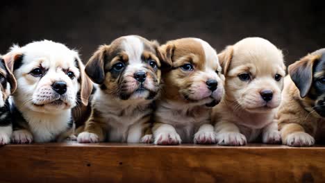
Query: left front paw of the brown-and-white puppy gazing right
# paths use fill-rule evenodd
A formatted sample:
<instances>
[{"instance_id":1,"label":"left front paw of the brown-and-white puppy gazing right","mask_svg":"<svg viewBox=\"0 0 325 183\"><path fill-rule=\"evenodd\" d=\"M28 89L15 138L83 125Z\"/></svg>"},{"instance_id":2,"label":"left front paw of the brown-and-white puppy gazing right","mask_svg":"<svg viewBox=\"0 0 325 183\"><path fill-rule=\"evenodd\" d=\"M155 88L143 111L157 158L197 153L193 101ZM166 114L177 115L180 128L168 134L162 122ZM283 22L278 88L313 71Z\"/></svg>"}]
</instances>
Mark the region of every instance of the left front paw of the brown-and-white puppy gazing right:
<instances>
[{"instance_id":1,"label":"left front paw of the brown-and-white puppy gazing right","mask_svg":"<svg viewBox=\"0 0 325 183\"><path fill-rule=\"evenodd\" d=\"M182 142L176 129L165 123L153 124L153 139L153 143L157 145L177 145Z\"/></svg>"}]
</instances>

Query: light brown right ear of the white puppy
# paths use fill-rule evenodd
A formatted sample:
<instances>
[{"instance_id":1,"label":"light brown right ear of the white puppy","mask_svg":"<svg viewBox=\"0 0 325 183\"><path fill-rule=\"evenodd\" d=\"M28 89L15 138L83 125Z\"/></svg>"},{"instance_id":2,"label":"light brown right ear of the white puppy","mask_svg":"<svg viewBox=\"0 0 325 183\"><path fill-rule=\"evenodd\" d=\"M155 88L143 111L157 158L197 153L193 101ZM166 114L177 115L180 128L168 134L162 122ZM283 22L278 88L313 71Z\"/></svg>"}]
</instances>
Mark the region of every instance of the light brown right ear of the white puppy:
<instances>
[{"instance_id":1,"label":"light brown right ear of the white puppy","mask_svg":"<svg viewBox=\"0 0 325 183\"><path fill-rule=\"evenodd\" d=\"M87 74L85 73L85 67L83 66L83 62L80 59L76 59L76 64L80 69L80 97L81 102L83 105L88 105L88 100L90 94L92 94L92 81L88 78Z\"/></svg>"}]
</instances>

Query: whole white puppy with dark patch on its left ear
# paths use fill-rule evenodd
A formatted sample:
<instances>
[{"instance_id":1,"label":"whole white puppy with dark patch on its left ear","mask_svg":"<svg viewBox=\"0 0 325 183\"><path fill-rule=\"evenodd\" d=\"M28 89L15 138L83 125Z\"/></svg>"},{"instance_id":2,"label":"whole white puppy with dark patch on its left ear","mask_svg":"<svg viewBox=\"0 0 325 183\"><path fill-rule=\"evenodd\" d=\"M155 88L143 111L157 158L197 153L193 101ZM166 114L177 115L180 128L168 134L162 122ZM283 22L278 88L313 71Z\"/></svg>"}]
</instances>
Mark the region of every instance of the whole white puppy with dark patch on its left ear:
<instances>
[{"instance_id":1,"label":"whole white puppy with dark patch on its left ear","mask_svg":"<svg viewBox=\"0 0 325 183\"><path fill-rule=\"evenodd\" d=\"M12 142L63 141L69 137L74 129L72 108L77 103L87 105L92 91L78 53L44 40L12 46L6 58L17 79L12 95Z\"/></svg>"}]
</instances>

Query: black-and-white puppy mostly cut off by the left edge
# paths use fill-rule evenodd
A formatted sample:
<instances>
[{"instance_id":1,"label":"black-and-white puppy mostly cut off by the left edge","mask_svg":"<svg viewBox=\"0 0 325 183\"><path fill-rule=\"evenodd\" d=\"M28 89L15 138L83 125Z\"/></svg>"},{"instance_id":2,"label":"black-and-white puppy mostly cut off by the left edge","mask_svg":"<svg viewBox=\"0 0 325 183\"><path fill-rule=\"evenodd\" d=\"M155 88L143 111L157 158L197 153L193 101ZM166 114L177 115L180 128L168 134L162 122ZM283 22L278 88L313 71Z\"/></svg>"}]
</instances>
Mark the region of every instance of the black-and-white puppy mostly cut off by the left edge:
<instances>
[{"instance_id":1,"label":"black-and-white puppy mostly cut off by the left edge","mask_svg":"<svg viewBox=\"0 0 325 183\"><path fill-rule=\"evenodd\" d=\"M9 96L16 89L16 80L12 68L0 56L0 145L10 143L12 134L12 116L10 113Z\"/></svg>"}]
</instances>

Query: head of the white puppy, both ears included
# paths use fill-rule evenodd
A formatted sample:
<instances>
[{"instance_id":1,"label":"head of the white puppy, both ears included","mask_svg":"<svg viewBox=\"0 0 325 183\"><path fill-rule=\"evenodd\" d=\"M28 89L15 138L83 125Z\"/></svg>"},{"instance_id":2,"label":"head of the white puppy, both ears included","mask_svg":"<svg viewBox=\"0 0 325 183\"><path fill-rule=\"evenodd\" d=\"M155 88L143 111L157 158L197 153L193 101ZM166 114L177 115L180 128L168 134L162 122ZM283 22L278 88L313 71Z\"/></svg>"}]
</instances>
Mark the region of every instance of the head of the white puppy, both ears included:
<instances>
[{"instance_id":1,"label":"head of the white puppy, both ears included","mask_svg":"<svg viewBox=\"0 0 325 183\"><path fill-rule=\"evenodd\" d=\"M47 113L70 109L78 102L88 104L92 83L76 51L44 40L12 46L5 57L17 79L13 95L17 105Z\"/></svg>"}]
</instances>

